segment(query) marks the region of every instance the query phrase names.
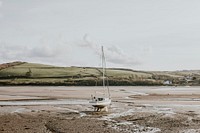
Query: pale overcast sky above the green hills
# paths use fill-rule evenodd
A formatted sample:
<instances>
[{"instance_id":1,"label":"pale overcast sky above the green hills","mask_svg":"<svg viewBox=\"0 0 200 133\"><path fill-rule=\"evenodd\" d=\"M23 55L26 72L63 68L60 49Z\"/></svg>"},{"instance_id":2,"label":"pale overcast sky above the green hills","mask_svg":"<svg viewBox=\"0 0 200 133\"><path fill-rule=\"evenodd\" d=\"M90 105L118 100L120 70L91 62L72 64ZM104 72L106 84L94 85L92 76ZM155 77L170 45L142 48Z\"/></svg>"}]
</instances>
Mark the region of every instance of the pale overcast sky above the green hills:
<instances>
[{"instance_id":1,"label":"pale overcast sky above the green hills","mask_svg":"<svg viewBox=\"0 0 200 133\"><path fill-rule=\"evenodd\" d=\"M200 69L199 0L0 0L0 64Z\"/></svg>"}]
</instances>

